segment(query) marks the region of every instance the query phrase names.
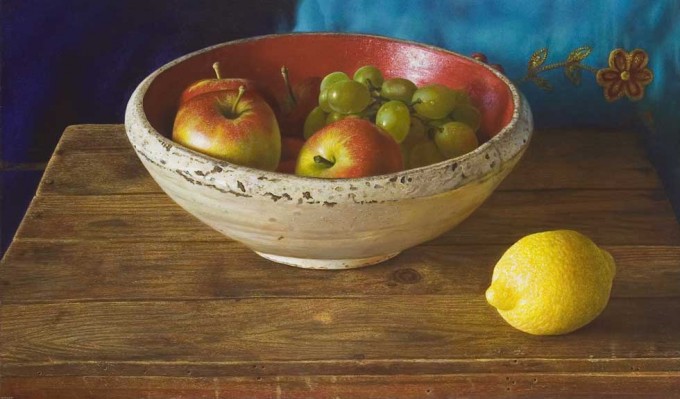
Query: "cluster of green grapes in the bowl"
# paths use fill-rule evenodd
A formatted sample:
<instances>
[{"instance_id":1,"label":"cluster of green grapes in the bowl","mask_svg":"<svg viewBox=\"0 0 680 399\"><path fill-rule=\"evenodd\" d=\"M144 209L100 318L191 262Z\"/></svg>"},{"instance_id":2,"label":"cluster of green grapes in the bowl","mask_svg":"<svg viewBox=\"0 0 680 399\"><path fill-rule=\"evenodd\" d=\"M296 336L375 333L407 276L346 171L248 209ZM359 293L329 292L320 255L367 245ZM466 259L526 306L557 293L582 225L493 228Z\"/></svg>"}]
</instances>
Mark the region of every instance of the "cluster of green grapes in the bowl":
<instances>
[{"instance_id":1,"label":"cluster of green grapes in the bowl","mask_svg":"<svg viewBox=\"0 0 680 399\"><path fill-rule=\"evenodd\" d=\"M368 119L401 145L406 168L455 158L479 146L481 115L464 90L385 79L373 65L357 69L352 78L331 72L319 89L319 104L304 123L305 139L340 119Z\"/></svg>"}]
</instances>

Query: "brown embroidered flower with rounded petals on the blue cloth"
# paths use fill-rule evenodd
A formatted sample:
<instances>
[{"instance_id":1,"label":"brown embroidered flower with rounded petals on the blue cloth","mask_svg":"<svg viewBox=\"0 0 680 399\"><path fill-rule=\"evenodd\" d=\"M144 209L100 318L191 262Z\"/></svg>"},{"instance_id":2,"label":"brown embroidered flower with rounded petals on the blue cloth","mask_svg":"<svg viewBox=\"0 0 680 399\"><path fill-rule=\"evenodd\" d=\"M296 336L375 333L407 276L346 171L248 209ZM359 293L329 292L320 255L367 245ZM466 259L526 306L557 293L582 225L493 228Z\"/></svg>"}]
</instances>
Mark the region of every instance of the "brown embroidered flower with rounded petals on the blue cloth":
<instances>
[{"instance_id":1,"label":"brown embroidered flower with rounded petals on the blue cloth","mask_svg":"<svg viewBox=\"0 0 680 399\"><path fill-rule=\"evenodd\" d=\"M630 53L617 48L609 53L609 68L597 71L597 84L604 87L604 98L616 101L628 96L633 101L642 99L645 86L654 79L647 68L649 56L644 50L635 49Z\"/></svg>"}]
</instances>

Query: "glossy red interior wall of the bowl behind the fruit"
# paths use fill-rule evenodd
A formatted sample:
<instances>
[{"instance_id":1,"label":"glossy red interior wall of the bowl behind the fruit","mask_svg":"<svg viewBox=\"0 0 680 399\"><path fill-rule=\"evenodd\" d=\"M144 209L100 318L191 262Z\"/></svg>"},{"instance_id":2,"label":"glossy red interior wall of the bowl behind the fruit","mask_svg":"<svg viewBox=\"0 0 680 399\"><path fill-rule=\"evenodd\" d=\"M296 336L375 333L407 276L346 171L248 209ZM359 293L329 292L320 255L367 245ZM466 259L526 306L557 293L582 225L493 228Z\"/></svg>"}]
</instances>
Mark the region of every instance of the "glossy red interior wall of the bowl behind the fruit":
<instances>
[{"instance_id":1,"label":"glossy red interior wall of the bowl behind the fruit","mask_svg":"<svg viewBox=\"0 0 680 399\"><path fill-rule=\"evenodd\" d=\"M171 136L180 94L196 80L213 78L216 61L223 77L253 79L269 90L269 95L284 93L283 65L293 84L333 71L351 76L357 68L371 64L386 78L405 77L417 85L440 83L464 89L482 113L480 132L487 139L510 122L514 107L510 90L501 79L447 51L374 36L291 34L229 43L165 70L144 97L144 110L156 130Z\"/></svg>"}]
</instances>

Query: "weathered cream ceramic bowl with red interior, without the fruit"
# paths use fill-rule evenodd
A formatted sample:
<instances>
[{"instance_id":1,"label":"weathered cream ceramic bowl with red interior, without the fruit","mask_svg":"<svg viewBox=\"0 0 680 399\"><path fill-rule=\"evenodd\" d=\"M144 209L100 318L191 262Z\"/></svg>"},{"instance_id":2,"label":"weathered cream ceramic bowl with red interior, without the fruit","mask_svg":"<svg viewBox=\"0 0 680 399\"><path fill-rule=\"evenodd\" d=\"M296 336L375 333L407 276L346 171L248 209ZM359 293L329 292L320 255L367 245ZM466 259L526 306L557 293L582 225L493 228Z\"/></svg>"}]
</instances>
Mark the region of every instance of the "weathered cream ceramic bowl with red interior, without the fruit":
<instances>
[{"instance_id":1,"label":"weathered cream ceramic bowl with red interior, without the fruit","mask_svg":"<svg viewBox=\"0 0 680 399\"><path fill-rule=\"evenodd\" d=\"M170 139L181 92L211 77L215 61L224 77L264 87L280 86L282 65L296 81L372 64L418 85L464 88L482 112L484 143L434 165L354 179L305 178L217 160ZM199 220L275 262L345 269L389 259L467 218L521 158L533 123L511 82L474 59L386 37L309 33L228 42L168 63L134 91L125 127L158 185Z\"/></svg>"}]
</instances>

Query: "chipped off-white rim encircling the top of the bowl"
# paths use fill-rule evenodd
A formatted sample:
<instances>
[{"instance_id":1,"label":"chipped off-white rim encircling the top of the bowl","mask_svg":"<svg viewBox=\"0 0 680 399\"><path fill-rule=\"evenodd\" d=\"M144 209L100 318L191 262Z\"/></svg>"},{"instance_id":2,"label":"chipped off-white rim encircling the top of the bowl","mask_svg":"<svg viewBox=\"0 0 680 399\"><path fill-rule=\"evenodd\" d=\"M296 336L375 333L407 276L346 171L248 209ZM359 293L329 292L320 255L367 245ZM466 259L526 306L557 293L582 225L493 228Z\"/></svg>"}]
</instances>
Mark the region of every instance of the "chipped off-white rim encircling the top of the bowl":
<instances>
[{"instance_id":1,"label":"chipped off-white rim encircling the top of the bowl","mask_svg":"<svg viewBox=\"0 0 680 399\"><path fill-rule=\"evenodd\" d=\"M459 157L447 159L435 164L426 165L418 168L405 169L403 171L394 172L390 174L356 178L306 177L276 171L266 171L243 165L237 165L225 160L213 158L211 156L191 150L174 142L172 139L158 132L146 118L146 115L144 113L144 99L147 90L159 75L171 69L175 65L180 64L190 58L214 51L222 47L286 36L290 37L337 36L337 37L361 37L366 39L387 40L390 42L402 43L413 47L419 47L425 50L449 54L454 57L464 58L467 61L470 61L481 68L487 69L492 74L494 74L497 79L503 82L505 87L510 91L510 98L513 102L512 117L510 121L506 125L504 125L501 128L501 130L498 133L496 133L492 138L481 144L475 150L463 154ZM522 124L524 126L519 126ZM186 55L183 55L181 57L178 57L174 60L167 62L166 64L164 64L163 66L149 74L141 83L139 83L139 85L133 91L125 111L125 128L128 138L134 150L140 156L140 159L142 159L142 162L147 161L158 167L170 169L169 164L171 164L171 162L168 162L167 159L165 159L165 162L158 162L158 160L155 159L156 157L154 157L154 154L157 155L159 151L154 151L153 147L156 147L156 149L158 149L158 145L160 145L160 147L163 148L162 154L164 156L170 158L179 156L181 158L184 158L183 159L184 162L180 163L182 165L187 166L186 173L190 174L191 178L194 179L195 181L198 182L203 181L204 183L207 183L208 173L206 173L206 171L210 170L211 171L209 173L210 184L205 185L208 186L212 185L214 187L216 182L217 183L221 182L222 185L230 186L233 188L234 184L230 183L235 183L238 181L238 188L240 189L241 192L249 194L248 196L250 196L250 194L271 195L270 187L268 187L267 184L262 182L274 182L282 186L286 185L291 186L299 184L304 185L306 187L305 190L306 192L310 191L327 193L335 192L335 194L337 194L339 191L340 192L343 191L343 189L347 189L348 191L355 191L357 187L365 188L374 187L376 189L382 189L384 185L380 183L387 183L388 185L390 183L399 183L401 185L409 184L414 185L415 183L423 181L418 178L425 177L426 175L431 174L431 172L435 172L434 173L435 175L444 174L452 175L451 173L452 171L455 172L456 170L458 170L458 178L451 178L452 176L449 176L449 178L446 179L448 180L447 184L436 184L437 187L429 185L428 186L429 188L425 189L417 189L412 187L413 188L412 190L407 190L410 193L409 196L415 198L433 195L439 192L455 189L472 182L485 180L486 178L490 177L490 175L500 173L501 166L504 163L516 158L518 155L521 155L526 146L529 144L533 131L533 121L531 117L529 104L526 102L526 99L515 87L515 85L510 81L510 79L508 79L504 74L500 73L498 70L472 57L468 57L463 54L456 53L455 51L447 50L430 44L375 34L348 33L348 32L289 32L252 36L243 39L231 40L190 52ZM518 137L514 138L509 137L512 136L513 134L517 135ZM148 139L150 138L154 139L154 141L149 141ZM521 143L519 143L520 140ZM514 145L512 145L511 148L508 148L507 151L500 151L497 147L499 147L503 143ZM475 162L473 161L475 159L483 159L485 157L487 161L489 159L492 160L492 162L490 163L490 168L486 168L488 169L487 171L485 171L485 168L476 169L468 168L474 170L469 170L469 173L466 175L465 171L463 170L465 168L458 167L461 165L465 166L466 164L474 164ZM496 165L494 165L493 162L494 160L498 161ZM190 166L189 164L192 164L191 167L189 167ZM191 173L190 172L191 170L195 170L196 172L199 173ZM203 172L201 173L200 171ZM184 177L186 178L186 176ZM240 180L237 180L237 178L240 178ZM241 182L255 181L255 179L259 181L260 184L251 184L249 185L247 190L244 190ZM234 190L230 191L233 191L234 194L239 195L239 193ZM356 195L352 196L352 201L354 202L359 202L359 200L362 200L361 202L364 202L363 201L364 199L367 200L368 202L374 201L377 202L376 198L383 201L384 200L389 201L394 199L393 198L394 196L392 195L380 195L376 193L367 195L365 190L358 191L355 193ZM365 198L359 198L360 196Z\"/></svg>"}]
</instances>

